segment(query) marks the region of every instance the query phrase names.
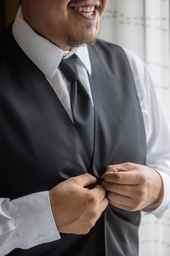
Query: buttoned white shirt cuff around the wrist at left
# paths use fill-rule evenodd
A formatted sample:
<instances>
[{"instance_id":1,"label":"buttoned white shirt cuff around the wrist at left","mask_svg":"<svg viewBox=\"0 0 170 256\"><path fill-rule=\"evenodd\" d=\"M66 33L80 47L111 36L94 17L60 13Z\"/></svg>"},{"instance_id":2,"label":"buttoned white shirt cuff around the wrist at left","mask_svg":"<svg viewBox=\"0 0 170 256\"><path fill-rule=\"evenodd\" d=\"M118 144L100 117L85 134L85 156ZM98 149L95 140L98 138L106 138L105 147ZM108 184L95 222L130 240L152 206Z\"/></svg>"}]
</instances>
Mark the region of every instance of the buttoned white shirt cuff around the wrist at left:
<instances>
[{"instance_id":1,"label":"buttoned white shirt cuff around the wrist at left","mask_svg":"<svg viewBox=\"0 0 170 256\"><path fill-rule=\"evenodd\" d=\"M16 228L25 249L60 239L51 213L48 191L26 195L11 202Z\"/></svg>"}]
</instances>

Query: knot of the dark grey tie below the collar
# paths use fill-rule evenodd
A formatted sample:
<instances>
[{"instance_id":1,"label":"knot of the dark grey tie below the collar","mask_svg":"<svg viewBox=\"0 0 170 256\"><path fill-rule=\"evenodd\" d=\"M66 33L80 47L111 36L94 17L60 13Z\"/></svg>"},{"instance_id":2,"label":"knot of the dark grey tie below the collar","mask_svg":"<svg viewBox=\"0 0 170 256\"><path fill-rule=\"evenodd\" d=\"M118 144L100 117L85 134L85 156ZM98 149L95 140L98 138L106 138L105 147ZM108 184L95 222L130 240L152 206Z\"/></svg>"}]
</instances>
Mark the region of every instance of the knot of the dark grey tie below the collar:
<instances>
[{"instance_id":1,"label":"knot of the dark grey tie below the collar","mask_svg":"<svg viewBox=\"0 0 170 256\"><path fill-rule=\"evenodd\" d=\"M64 76L66 76L66 79L69 80L69 82L79 80L77 58L78 57L73 54L71 58L62 59L60 62L60 70L63 72Z\"/></svg>"}]
</instances>

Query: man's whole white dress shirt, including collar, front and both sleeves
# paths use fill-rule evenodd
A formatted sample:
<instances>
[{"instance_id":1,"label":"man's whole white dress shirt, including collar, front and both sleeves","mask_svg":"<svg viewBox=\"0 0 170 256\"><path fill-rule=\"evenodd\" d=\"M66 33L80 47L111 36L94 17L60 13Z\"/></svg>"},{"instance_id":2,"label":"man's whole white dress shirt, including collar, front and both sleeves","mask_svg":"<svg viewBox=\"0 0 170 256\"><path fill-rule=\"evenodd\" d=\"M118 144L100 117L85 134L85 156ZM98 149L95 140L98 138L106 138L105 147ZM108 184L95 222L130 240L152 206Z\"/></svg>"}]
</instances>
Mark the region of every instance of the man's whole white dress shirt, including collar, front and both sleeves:
<instances>
[{"instance_id":1,"label":"man's whole white dress shirt, including collar, front and both sleeves","mask_svg":"<svg viewBox=\"0 0 170 256\"><path fill-rule=\"evenodd\" d=\"M19 8L13 23L13 37L31 61L44 73L63 107L72 119L70 103L70 83L58 69L61 59L69 57L72 52L78 55L78 71L81 81L92 99L88 73L91 64L86 46L63 52L54 44L36 34L22 17ZM125 49L136 85L139 103L145 123L147 142L147 162L156 169L164 186L164 198L160 207L153 213L160 218L170 203L170 132L166 117L157 103L154 85L145 64L136 55ZM15 248L29 249L41 243L60 239L51 213L48 192L39 192L16 198L0 198L0 256L6 255Z\"/></svg>"}]
</instances>

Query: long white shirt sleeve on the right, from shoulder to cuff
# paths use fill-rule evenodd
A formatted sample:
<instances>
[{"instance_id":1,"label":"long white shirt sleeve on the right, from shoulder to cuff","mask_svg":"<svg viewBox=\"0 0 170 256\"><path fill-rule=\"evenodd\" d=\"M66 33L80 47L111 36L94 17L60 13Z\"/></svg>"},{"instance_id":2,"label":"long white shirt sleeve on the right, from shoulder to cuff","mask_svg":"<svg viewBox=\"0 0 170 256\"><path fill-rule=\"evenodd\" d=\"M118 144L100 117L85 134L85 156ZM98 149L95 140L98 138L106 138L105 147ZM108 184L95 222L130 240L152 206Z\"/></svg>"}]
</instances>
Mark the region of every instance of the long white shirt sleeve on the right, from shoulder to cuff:
<instances>
[{"instance_id":1,"label":"long white shirt sleeve on the right, from shoulder to cuff","mask_svg":"<svg viewBox=\"0 0 170 256\"><path fill-rule=\"evenodd\" d=\"M160 218L170 204L170 129L168 118L157 99L153 81L145 64L136 55L125 49L145 124L147 144L146 165L157 170L162 177L164 198L160 207L151 214Z\"/></svg>"}]
</instances>

